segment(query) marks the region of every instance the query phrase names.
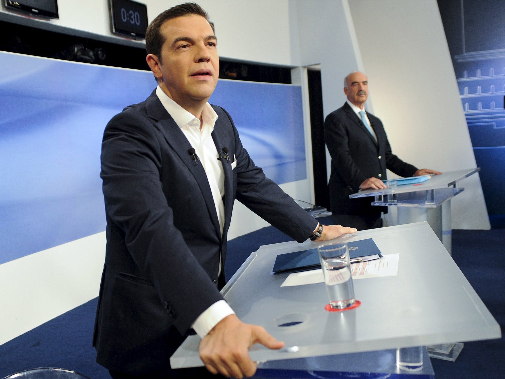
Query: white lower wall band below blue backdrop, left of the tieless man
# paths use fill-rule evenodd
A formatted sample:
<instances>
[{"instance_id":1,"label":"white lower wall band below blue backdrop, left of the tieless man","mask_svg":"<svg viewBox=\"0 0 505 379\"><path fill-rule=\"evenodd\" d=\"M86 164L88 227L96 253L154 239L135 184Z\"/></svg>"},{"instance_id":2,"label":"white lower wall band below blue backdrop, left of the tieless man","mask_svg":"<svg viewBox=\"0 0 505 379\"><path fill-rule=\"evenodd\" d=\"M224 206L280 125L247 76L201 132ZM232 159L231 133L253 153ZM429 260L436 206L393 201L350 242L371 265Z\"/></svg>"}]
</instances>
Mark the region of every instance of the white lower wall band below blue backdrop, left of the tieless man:
<instances>
[{"instance_id":1,"label":"white lower wall band below blue backdrop, left of the tieless man","mask_svg":"<svg viewBox=\"0 0 505 379\"><path fill-rule=\"evenodd\" d=\"M0 265L0 345L98 296L105 231Z\"/></svg>"}]
</instances>

